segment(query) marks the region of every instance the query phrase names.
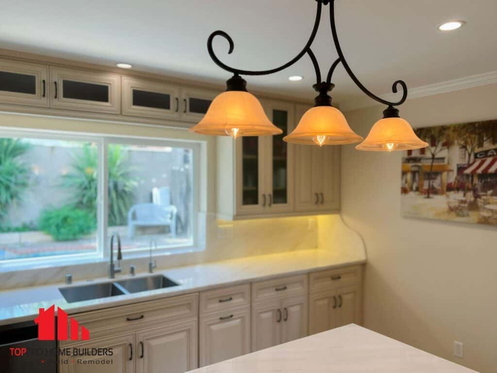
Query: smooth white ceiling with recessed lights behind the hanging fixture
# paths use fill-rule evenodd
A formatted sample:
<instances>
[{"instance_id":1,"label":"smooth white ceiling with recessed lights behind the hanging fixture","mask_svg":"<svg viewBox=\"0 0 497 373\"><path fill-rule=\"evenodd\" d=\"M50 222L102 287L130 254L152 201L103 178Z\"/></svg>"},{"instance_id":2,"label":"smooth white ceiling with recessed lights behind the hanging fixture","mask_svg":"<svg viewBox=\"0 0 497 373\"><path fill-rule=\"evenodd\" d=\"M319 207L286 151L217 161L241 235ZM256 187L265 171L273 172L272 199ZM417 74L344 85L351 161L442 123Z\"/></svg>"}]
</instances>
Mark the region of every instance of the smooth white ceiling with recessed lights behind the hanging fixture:
<instances>
[{"instance_id":1,"label":"smooth white ceiling with recessed lights behind the hanging fixture","mask_svg":"<svg viewBox=\"0 0 497 373\"><path fill-rule=\"evenodd\" d=\"M403 79L419 87L497 70L496 0L336 0L337 29L349 65L377 94ZM315 17L315 0L2 0L0 48L86 62L131 63L136 70L223 83L230 74L207 54L217 29L235 41L214 43L222 61L242 69L279 66L304 46ZM326 76L337 57L328 6L313 50ZM436 26L466 20L460 30ZM290 75L303 75L289 82ZM307 56L287 70L247 77L248 88L310 99L314 70ZM362 93L338 67L333 97Z\"/></svg>"}]
</instances>

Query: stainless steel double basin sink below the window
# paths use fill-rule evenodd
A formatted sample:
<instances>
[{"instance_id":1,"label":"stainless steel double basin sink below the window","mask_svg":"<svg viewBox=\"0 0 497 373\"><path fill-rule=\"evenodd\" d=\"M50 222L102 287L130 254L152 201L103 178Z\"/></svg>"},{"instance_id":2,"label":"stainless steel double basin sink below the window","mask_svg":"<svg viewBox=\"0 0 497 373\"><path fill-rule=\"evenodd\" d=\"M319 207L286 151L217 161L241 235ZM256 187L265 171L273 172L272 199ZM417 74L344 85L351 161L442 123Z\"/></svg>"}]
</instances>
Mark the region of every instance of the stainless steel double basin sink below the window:
<instances>
[{"instance_id":1,"label":"stainless steel double basin sink below the window","mask_svg":"<svg viewBox=\"0 0 497 373\"><path fill-rule=\"evenodd\" d=\"M114 282L60 287L59 291L68 303L74 303L84 300L108 298L109 296L163 289L177 285L178 283L168 279L166 276L153 275Z\"/></svg>"}]
</instances>

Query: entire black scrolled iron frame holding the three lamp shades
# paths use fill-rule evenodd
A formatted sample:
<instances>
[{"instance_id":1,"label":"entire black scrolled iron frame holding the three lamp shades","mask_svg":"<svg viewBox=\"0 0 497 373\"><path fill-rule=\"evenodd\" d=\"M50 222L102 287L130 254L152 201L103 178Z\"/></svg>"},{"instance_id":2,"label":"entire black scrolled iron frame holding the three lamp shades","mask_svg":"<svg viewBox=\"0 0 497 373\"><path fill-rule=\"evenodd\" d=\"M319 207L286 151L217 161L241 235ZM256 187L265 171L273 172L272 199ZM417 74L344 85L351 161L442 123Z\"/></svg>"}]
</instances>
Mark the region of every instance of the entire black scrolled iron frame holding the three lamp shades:
<instances>
[{"instance_id":1,"label":"entire black scrolled iron frame holding the three lamp shades","mask_svg":"<svg viewBox=\"0 0 497 373\"><path fill-rule=\"evenodd\" d=\"M216 65L218 65L221 69L229 71L229 72L233 73L235 76L239 76L239 75L252 75L253 76L253 75L269 75L269 74L273 74L273 73L277 73L279 71L282 71L282 70L286 69L287 67L290 67L293 64L295 64L297 61L299 61L307 53L309 55L309 58L311 59L314 70L316 72L316 81L317 81L316 86L320 86L321 88L324 89L326 86L321 84L322 83L321 82L321 71L319 68L318 60L316 59L316 56L314 55L313 51L311 50L311 45L314 42L314 39L316 38L316 34L318 32L318 28L319 28L319 24L320 24L320 20L321 20L322 7L323 7L323 5L330 4L331 34L333 36L333 43L335 45L336 53L338 54L338 58L331 64L330 70L328 71L328 75L327 75L327 79L326 79L326 85L328 86L328 91L331 90L331 88L333 87L333 85L331 84L331 78L333 76L333 72L334 72L336 66L338 66L338 64L341 62L341 64L343 65L343 68L345 69L345 71L349 75L350 79L352 79L352 81L356 84L356 86L359 87L359 89L362 92L364 92L365 94L367 94L369 97L371 97L372 99L374 99L380 103L383 103L383 104L389 105L389 106L398 106L398 105L403 104L407 98L407 85L404 81L398 80L398 81L394 82L394 84L392 86L393 93L398 92L398 86L402 87L403 93L402 93L401 99L399 101L387 101L387 100L375 95L371 91L369 91L359 81L359 79L357 79L355 74L352 72L352 69L348 65L347 61L345 60L345 57L343 56L343 52L342 52L341 47L340 47L340 43L338 41L338 36L337 36L337 32L336 32L336 25L335 25L335 16L334 16L334 0L316 0L316 2L318 3L317 10L316 10L316 19L314 21L314 26L313 26L313 29L311 31L311 35L309 37L309 40L307 41L304 48L299 52L299 54L297 54L293 59L291 59L287 63L285 63L279 67L276 67L274 69L261 70L261 71L242 70L242 69L236 69L234 67L228 66L225 63L223 63L216 56L216 54L214 53L214 49L212 47L212 42L213 42L214 38L216 36L222 36L226 40L228 40L228 43L229 43L228 54L231 54L233 52L233 50L235 48L235 43L233 42L233 39L231 38L230 35L228 35L226 32L221 31L221 30L214 31L212 34L209 35L209 38L207 39L207 50L209 51L209 56L212 58L214 63ZM325 83L325 82L323 82L323 83ZM318 87L315 87L315 89L318 91Z\"/></svg>"}]
</instances>

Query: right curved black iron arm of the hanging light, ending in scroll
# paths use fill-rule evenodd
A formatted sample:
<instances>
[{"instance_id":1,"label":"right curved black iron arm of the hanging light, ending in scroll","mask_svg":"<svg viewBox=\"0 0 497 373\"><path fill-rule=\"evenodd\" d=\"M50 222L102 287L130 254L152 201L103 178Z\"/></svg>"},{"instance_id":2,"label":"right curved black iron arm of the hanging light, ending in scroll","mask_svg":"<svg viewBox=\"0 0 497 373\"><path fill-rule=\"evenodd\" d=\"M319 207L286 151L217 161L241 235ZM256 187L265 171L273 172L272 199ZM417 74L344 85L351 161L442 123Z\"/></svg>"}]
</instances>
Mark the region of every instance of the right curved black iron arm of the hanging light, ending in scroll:
<instances>
[{"instance_id":1,"label":"right curved black iron arm of the hanging light, ending in scroll","mask_svg":"<svg viewBox=\"0 0 497 373\"><path fill-rule=\"evenodd\" d=\"M338 60L336 60L335 63L337 63L337 61L341 62L342 65L343 65L343 68L345 69L345 71L349 75L350 79L352 79L352 81L355 83L355 85L357 87L359 87L362 92L366 93L372 99L374 99L374 100L376 100L378 102L384 103L385 105L389 105L389 106L402 105L404 103L404 101L406 101L406 98L407 98L407 85L406 85L406 83L404 81L398 80L398 81L394 82L394 84L392 86L392 92L393 93L397 93L397 86L400 85L402 87L403 93L402 93L402 97L401 97L401 99L399 101L392 102L392 101L387 101L387 100L385 100L385 99L383 99L381 97L378 97L374 93L371 93L366 87L364 87L364 85L354 75L354 73L352 72L352 69L350 69L350 66L348 66L348 63L345 60L345 57L343 56L343 52L342 52L341 47L340 47L340 42L338 41L338 35L336 33L336 25L335 25L334 3L335 3L334 0L330 1L331 34L333 35L333 42L335 44L336 53L338 53ZM331 73L328 74L329 78L331 78L331 74L333 73L332 69L334 69L333 65L331 65L331 68L330 68L330 72Z\"/></svg>"}]
</instances>

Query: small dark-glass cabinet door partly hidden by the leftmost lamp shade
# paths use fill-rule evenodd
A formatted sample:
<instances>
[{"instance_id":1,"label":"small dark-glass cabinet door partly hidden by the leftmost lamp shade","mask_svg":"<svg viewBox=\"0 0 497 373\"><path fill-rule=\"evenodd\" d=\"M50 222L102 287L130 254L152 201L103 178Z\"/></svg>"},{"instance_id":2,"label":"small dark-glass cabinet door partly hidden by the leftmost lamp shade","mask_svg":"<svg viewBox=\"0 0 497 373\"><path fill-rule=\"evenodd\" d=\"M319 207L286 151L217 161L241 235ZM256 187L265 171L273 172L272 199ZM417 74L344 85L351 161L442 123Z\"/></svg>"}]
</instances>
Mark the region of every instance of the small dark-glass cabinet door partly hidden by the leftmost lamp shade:
<instances>
[{"instance_id":1,"label":"small dark-glass cabinet door partly hidden by the leftmost lamp shade","mask_svg":"<svg viewBox=\"0 0 497 373\"><path fill-rule=\"evenodd\" d=\"M212 100L221 92L196 88L181 88L180 116L185 122L198 123L207 112Z\"/></svg>"}]
</instances>

